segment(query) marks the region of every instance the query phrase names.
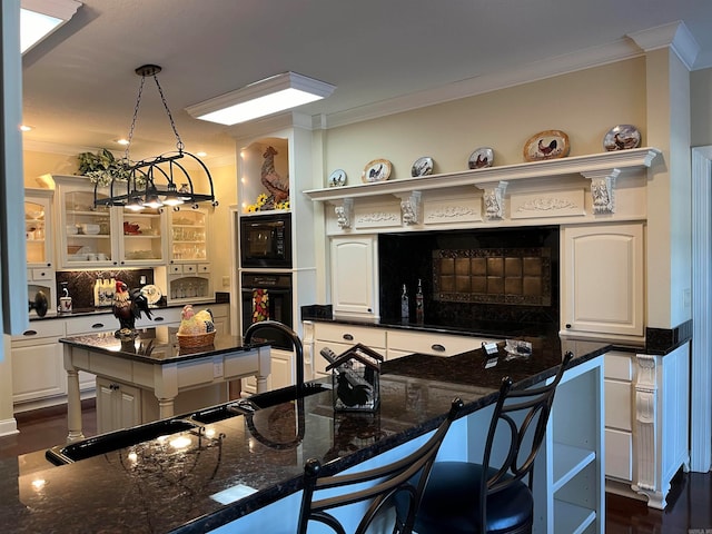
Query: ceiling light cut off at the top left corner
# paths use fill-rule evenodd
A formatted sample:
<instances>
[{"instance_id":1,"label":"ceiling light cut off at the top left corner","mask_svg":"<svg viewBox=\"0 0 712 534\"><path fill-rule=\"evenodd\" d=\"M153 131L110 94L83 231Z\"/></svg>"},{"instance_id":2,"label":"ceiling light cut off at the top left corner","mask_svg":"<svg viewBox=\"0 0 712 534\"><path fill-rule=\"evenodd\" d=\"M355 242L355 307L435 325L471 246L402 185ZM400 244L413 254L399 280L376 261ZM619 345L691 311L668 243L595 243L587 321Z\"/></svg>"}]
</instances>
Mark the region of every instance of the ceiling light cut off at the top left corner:
<instances>
[{"instance_id":1,"label":"ceiling light cut off at the top left corner","mask_svg":"<svg viewBox=\"0 0 712 534\"><path fill-rule=\"evenodd\" d=\"M76 0L22 0L20 9L20 50L27 52L73 17L81 7Z\"/></svg>"}]
</instances>

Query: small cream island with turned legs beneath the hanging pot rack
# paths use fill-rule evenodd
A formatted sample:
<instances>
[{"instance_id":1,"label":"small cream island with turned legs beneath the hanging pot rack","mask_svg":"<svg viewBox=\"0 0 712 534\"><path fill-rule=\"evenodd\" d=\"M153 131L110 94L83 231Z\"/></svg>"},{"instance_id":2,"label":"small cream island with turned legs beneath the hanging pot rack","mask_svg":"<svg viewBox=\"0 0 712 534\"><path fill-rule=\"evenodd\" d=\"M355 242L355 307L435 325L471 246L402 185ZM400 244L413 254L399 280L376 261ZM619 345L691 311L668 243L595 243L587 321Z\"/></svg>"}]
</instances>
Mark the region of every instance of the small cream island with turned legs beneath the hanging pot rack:
<instances>
[{"instance_id":1,"label":"small cream island with turned legs beneath the hanging pot rack","mask_svg":"<svg viewBox=\"0 0 712 534\"><path fill-rule=\"evenodd\" d=\"M171 417L179 394L188 392L196 397L191 402L200 404L201 396L215 398L207 388L222 385L227 393L227 382L247 376L257 378L258 393L266 390L270 373L266 344L245 347L241 337L218 333L210 345L184 348L177 333L176 327L158 326L138 330L134 339L118 339L113 332L61 338L67 370L67 441L85 437L79 370L97 375L99 432ZM227 400L226 394L222 397ZM206 400L200 406L216 402Z\"/></svg>"}]
</instances>

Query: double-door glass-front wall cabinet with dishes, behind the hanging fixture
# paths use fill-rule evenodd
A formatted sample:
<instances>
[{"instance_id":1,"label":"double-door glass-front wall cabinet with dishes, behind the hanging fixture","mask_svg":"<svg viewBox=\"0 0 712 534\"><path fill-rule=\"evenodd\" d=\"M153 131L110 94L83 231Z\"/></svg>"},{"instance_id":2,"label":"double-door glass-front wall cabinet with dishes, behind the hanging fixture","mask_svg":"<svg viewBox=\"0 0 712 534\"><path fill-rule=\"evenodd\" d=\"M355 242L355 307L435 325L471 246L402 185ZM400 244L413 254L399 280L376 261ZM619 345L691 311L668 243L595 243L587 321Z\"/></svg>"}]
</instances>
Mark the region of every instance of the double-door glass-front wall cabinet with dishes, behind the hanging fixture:
<instances>
[{"instance_id":1,"label":"double-door glass-front wall cabinet with dishes, behind the hanging fixture","mask_svg":"<svg viewBox=\"0 0 712 534\"><path fill-rule=\"evenodd\" d=\"M59 205L61 268L152 266L164 261L165 217L158 209L129 211L93 206L86 177L55 177ZM106 198L99 189L97 198Z\"/></svg>"}]
</instances>

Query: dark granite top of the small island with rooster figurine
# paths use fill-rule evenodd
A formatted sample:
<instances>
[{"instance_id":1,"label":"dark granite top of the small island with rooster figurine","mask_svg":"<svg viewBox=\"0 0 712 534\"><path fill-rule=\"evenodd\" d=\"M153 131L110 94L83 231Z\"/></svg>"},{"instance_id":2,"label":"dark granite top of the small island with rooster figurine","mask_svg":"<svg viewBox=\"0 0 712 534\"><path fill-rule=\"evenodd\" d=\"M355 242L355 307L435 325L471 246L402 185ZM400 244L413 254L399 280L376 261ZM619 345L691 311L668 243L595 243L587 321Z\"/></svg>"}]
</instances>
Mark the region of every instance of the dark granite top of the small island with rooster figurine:
<instances>
[{"instance_id":1,"label":"dark granite top of the small island with rooster figurine","mask_svg":"<svg viewBox=\"0 0 712 534\"><path fill-rule=\"evenodd\" d=\"M169 364L205 356L249 350L254 347L267 345L267 343L253 343L244 346L241 336L217 333L210 345L180 347L177 334L178 327L157 326L155 328L139 329L137 337L134 339L119 339L113 335L113 332L102 332L63 337L60 343L108 356L121 356L150 364Z\"/></svg>"}]
</instances>

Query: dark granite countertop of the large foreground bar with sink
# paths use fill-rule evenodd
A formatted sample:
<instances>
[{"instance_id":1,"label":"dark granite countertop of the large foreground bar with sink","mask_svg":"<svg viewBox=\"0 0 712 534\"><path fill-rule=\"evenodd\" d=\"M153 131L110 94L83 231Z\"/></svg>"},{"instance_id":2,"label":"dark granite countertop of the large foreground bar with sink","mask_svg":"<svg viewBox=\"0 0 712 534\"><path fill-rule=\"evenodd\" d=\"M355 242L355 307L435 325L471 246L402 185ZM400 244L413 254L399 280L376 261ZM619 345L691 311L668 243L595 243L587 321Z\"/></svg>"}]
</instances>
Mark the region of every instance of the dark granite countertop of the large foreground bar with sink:
<instances>
[{"instance_id":1,"label":"dark granite countertop of the large foreground bar with sink","mask_svg":"<svg viewBox=\"0 0 712 534\"><path fill-rule=\"evenodd\" d=\"M504 376L526 387L555 374L566 350L575 366L609 348L544 336L531 357L508 360L500 349L490 368L482 349L416 354L384 363L376 414L335 413L326 390L43 471L24 474L22 456L3 461L1 516L14 533L202 533L299 491L306 458L343 471L434 429L455 396L467 415L495 400ZM230 504L211 497L236 486L256 493Z\"/></svg>"}]
</instances>

